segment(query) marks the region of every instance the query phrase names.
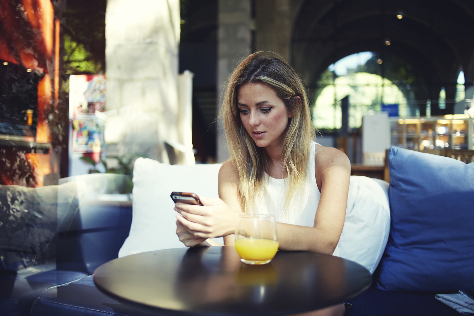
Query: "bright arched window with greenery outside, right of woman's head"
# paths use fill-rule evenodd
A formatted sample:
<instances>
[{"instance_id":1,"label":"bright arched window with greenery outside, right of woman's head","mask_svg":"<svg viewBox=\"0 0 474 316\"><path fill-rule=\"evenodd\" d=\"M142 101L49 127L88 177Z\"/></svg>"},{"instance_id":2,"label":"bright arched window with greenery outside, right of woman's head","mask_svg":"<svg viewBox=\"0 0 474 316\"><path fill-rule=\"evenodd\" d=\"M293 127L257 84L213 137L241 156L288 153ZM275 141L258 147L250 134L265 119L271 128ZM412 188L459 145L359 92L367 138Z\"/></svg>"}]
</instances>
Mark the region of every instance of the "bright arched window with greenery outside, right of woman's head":
<instances>
[{"instance_id":1,"label":"bright arched window with greenery outside, right of woman's head","mask_svg":"<svg viewBox=\"0 0 474 316\"><path fill-rule=\"evenodd\" d=\"M313 105L313 124L318 129L341 128L341 99L349 96L349 127L358 128L368 112L381 112L394 106L398 116L409 113L407 96L412 95L410 78L398 76L395 82L381 75L383 60L372 52L346 56L322 73ZM393 64L393 63L391 63ZM392 78L395 77L392 71ZM414 98L413 98L414 99Z\"/></svg>"}]
</instances>

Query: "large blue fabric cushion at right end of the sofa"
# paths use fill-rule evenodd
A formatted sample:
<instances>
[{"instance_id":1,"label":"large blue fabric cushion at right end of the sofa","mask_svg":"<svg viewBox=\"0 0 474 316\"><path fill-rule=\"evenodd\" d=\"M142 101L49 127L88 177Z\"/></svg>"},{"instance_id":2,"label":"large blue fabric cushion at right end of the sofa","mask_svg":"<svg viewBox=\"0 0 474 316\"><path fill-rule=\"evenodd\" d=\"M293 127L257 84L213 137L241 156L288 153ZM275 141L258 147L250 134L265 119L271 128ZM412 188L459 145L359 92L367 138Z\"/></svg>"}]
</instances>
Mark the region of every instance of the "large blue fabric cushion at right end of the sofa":
<instances>
[{"instance_id":1,"label":"large blue fabric cushion at right end of the sofa","mask_svg":"<svg viewBox=\"0 0 474 316\"><path fill-rule=\"evenodd\" d=\"M474 167L392 146L390 236L376 288L474 287Z\"/></svg>"}]
</instances>

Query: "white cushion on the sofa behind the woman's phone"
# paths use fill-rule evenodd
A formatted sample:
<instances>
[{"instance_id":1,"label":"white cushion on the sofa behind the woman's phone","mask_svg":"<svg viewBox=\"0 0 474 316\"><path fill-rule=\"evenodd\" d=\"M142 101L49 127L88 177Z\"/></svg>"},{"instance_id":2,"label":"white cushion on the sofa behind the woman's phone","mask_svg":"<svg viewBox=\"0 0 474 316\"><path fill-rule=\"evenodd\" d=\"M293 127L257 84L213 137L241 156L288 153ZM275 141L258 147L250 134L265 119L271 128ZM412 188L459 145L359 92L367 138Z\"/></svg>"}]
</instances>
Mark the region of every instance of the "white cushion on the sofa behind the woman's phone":
<instances>
[{"instance_id":1,"label":"white cushion on the sofa behind the woman's phone","mask_svg":"<svg viewBox=\"0 0 474 316\"><path fill-rule=\"evenodd\" d=\"M138 158L133 168L133 217L118 257L132 253L185 247L176 235L173 191L219 197L220 163L170 165ZM222 238L216 238L222 243Z\"/></svg>"}]
</instances>

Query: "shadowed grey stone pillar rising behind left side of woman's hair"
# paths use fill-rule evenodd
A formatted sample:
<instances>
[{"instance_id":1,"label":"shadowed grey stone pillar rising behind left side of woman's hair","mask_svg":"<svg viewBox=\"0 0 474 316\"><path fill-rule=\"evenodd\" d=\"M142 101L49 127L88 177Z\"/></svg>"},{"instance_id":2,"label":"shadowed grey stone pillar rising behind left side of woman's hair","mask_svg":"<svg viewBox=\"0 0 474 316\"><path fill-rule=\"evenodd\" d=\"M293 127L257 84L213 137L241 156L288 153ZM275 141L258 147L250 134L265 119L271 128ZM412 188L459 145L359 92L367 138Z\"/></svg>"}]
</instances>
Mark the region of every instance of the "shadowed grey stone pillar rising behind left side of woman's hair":
<instances>
[{"instance_id":1,"label":"shadowed grey stone pillar rising behind left side of woman's hair","mask_svg":"<svg viewBox=\"0 0 474 316\"><path fill-rule=\"evenodd\" d=\"M217 53L217 96L219 109L225 81L237 63L250 53L250 0L219 0ZM217 160L228 159L228 147L222 119L218 120Z\"/></svg>"}]
</instances>

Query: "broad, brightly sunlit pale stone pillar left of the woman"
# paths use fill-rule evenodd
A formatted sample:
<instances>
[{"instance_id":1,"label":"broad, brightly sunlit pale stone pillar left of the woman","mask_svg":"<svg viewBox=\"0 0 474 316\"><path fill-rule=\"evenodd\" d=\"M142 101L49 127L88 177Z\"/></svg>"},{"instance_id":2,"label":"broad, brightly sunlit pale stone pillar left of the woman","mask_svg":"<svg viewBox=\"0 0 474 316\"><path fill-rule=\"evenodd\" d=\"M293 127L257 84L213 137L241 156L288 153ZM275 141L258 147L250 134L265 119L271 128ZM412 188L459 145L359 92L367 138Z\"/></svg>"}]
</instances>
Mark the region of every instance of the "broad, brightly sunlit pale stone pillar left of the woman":
<instances>
[{"instance_id":1,"label":"broad, brightly sunlit pale stone pillar left of the woman","mask_svg":"<svg viewBox=\"0 0 474 316\"><path fill-rule=\"evenodd\" d=\"M117 109L107 152L167 162L164 142L179 141L179 0L108 0L105 36L107 110Z\"/></svg>"}]
</instances>

